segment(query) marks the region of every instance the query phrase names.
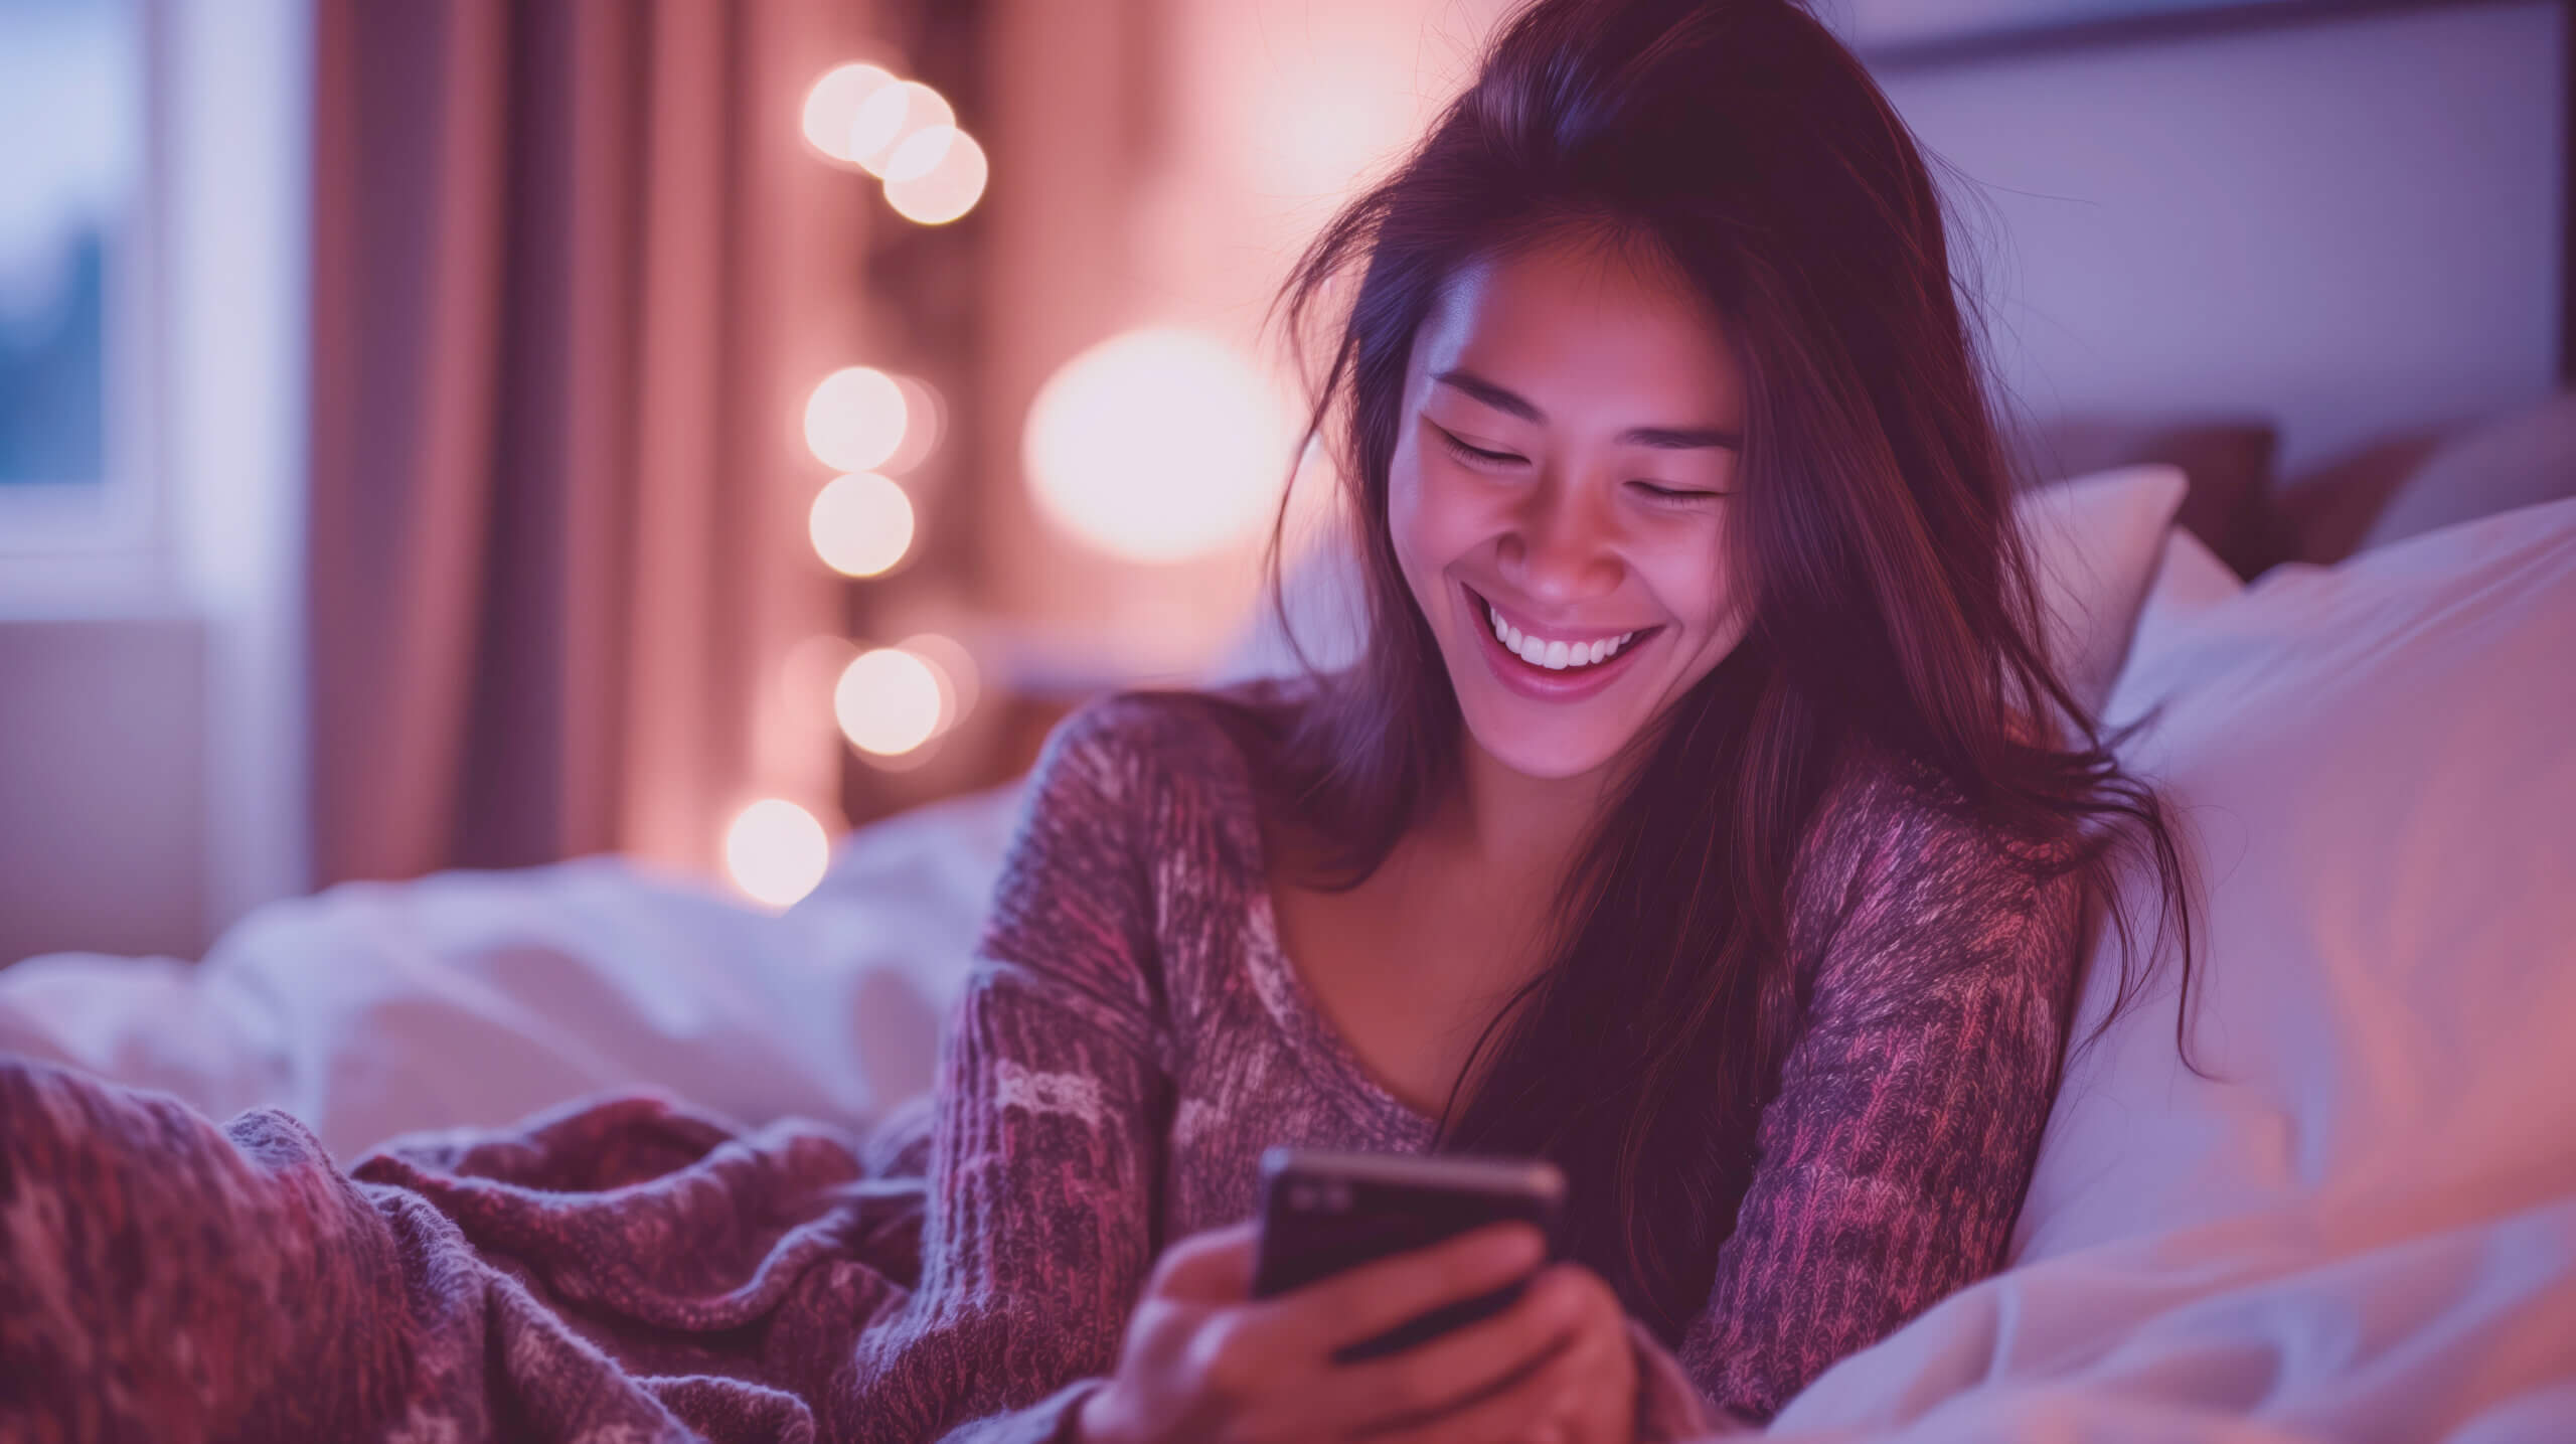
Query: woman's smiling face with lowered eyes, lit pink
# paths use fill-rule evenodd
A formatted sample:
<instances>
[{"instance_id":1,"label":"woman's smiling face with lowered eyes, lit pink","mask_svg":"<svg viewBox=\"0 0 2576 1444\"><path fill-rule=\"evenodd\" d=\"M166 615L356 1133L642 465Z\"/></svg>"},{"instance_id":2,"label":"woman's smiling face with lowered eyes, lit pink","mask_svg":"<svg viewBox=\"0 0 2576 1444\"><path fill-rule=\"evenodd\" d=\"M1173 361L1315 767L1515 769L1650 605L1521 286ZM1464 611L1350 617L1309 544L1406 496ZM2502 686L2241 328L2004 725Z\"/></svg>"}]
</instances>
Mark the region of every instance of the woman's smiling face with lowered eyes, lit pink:
<instances>
[{"instance_id":1,"label":"woman's smiling face with lowered eyes, lit pink","mask_svg":"<svg viewBox=\"0 0 2576 1444\"><path fill-rule=\"evenodd\" d=\"M1592 772L1734 651L1741 435L1744 378L1680 278L1546 245L1448 286L1414 337L1388 523L1484 752Z\"/></svg>"}]
</instances>

